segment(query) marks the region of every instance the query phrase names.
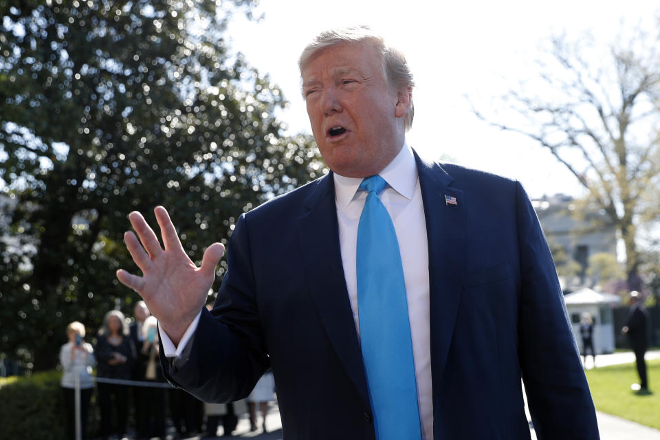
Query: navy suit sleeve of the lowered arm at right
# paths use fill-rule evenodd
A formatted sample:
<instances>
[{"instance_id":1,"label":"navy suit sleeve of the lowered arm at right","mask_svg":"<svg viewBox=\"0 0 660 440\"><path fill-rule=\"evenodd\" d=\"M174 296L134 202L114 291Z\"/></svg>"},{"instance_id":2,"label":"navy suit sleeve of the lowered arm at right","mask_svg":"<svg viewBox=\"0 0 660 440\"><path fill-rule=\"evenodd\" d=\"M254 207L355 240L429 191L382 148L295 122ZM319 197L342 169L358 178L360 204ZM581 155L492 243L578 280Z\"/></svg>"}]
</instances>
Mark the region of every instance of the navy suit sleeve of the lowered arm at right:
<instances>
[{"instance_id":1,"label":"navy suit sleeve of the lowered arm at right","mask_svg":"<svg viewBox=\"0 0 660 440\"><path fill-rule=\"evenodd\" d=\"M539 440L598 439L595 408L555 265L536 212L516 182L520 367Z\"/></svg>"}]
</instances>

